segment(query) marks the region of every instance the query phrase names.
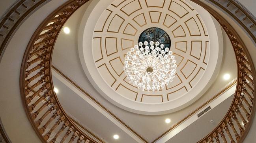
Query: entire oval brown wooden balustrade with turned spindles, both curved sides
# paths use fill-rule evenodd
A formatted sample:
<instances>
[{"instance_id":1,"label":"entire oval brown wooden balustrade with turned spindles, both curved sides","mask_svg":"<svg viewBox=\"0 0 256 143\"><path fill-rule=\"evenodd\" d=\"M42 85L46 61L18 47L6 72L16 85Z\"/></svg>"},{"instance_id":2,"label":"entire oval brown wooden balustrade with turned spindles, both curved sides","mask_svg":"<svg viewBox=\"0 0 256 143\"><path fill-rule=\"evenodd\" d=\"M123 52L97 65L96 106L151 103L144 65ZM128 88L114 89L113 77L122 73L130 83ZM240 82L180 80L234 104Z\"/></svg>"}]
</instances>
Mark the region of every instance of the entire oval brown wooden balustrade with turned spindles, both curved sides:
<instances>
[{"instance_id":1,"label":"entire oval brown wooden balustrade with turned spindles, both curved sides","mask_svg":"<svg viewBox=\"0 0 256 143\"><path fill-rule=\"evenodd\" d=\"M54 43L60 30L74 11L87 1L69 0L50 14L34 33L24 54L21 68L22 98L32 125L43 142L96 143L78 129L65 114L54 93L50 69ZM214 13L210 9L207 10ZM234 47L238 73L237 88L226 116L198 143L235 143L243 137L251 121L255 98L255 71L239 35L221 16L214 16ZM53 133L54 136L51 136Z\"/></svg>"}]
</instances>

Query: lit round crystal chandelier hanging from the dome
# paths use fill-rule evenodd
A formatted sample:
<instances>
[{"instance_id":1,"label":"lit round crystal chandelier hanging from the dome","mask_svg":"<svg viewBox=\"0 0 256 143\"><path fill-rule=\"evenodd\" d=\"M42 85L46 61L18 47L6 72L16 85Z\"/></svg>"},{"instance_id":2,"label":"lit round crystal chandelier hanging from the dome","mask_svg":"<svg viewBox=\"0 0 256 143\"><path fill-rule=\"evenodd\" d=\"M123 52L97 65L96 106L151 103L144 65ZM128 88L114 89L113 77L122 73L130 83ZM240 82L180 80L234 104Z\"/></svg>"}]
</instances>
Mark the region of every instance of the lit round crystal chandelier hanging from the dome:
<instances>
[{"instance_id":1,"label":"lit round crystal chandelier hanging from the dome","mask_svg":"<svg viewBox=\"0 0 256 143\"><path fill-rule=\"evenodd\" d=\"M139 89L159 91L172 82L176 73L176 60L169 48L159 42L142 42L131 48L125 57L123 70L129 81Z\"/></svg>"}]
</instances>

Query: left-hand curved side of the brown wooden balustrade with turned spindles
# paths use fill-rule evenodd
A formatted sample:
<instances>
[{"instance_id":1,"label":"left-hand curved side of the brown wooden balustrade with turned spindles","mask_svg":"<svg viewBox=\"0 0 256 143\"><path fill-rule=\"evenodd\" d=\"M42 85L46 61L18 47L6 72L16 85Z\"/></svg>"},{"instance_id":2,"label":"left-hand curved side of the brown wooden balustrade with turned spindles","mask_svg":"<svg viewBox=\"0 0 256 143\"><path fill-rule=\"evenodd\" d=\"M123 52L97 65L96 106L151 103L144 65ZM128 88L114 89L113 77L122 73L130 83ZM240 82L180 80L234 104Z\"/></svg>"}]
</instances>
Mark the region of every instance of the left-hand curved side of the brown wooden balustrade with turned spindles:
<instances>
[{"instance_id":1,"label":"left-hand curved side of the brown wooden balustrade with turned spindles","mask_svg":"<svg viewBox=\"0 0 256 143\"><path fill-rule=\"evenodd\" d=\"M87 1L69 0L50 14L34 33L23 58L22 98L43 142L96 143L65 114L54 93L50 69L53 46L62 26Z\"/></svg>"}]
</instances>

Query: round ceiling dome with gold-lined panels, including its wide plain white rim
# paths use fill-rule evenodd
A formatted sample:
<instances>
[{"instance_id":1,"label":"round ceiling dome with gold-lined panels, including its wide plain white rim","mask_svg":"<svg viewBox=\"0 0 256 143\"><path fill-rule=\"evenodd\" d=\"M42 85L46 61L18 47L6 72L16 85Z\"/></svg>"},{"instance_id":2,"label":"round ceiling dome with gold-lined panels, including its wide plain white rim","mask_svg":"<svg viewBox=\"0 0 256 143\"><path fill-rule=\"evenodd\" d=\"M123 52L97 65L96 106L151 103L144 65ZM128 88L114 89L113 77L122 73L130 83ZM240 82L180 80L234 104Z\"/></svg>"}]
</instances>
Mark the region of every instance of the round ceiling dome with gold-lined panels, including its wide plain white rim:
<instances>
[{"instance_id":1,"label":"round ceiling dome with gold-lined panels, including its wide plain white rim","mask_svg":"<svg viewBox=\"0 0 256 143\"><path fill-rule=\"evenodd\" d=\"M215 27L208 17L207 25ZM217 31L207 31L204 19L185 1L99 1L87 18L80 26L86 33L79 46L86 76L101 95L125 110L139 114L179 110L200 98L219 70L222 51L216 46ZM131 47L156 38L155 33L174 53L176 76L160 91L142 91L129 83L123 63ZM215 40L214 50L210 39Z\"/></svg>"}]
</instances>

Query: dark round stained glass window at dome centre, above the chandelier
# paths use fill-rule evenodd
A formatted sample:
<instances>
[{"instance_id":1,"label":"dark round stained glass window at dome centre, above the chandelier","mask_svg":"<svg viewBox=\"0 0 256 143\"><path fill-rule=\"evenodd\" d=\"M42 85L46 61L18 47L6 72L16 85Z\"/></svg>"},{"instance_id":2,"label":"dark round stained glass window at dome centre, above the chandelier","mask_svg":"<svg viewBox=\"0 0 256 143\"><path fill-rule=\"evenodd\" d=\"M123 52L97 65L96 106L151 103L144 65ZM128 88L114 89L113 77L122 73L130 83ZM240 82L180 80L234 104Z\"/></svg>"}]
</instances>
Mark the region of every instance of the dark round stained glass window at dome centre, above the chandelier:
<instances>
[{"instance_id":1,"label":"dark round stained glass window at dome centre, above the chandelier","mask_svg":"<svg viewBox=\"0 0 256 143\"><path fill-rule=\"evenodd\" d=\"M144 41L158 41L160 44L164 44L164 47L170 48L171 46L169 35L163 29L157 27L148 28L140 34L138 43Z\"/></svg>"}]
</instances>

